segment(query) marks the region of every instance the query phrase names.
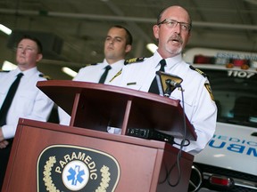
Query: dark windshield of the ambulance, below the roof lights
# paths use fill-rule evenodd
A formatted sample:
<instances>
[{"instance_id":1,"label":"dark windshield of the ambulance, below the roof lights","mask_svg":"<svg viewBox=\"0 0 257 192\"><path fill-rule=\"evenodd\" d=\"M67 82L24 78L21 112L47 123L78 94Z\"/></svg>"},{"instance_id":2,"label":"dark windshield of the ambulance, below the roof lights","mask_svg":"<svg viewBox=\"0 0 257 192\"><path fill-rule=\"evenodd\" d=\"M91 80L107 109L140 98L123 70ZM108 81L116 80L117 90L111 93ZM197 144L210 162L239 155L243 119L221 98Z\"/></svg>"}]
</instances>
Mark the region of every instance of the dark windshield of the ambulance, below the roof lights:
<instances>
[{"instance_id":1,"label":"dark windshield of the ambulance, below the roof lights","mask_svg":"<svg viewBox=\"0 0 257 192\"><path fill-rule=\"evenodd\" d=\"M209 68L201 70L209 76L218 107L218 121L257 128L256 73Z\"/></svg>"}]
</instances>

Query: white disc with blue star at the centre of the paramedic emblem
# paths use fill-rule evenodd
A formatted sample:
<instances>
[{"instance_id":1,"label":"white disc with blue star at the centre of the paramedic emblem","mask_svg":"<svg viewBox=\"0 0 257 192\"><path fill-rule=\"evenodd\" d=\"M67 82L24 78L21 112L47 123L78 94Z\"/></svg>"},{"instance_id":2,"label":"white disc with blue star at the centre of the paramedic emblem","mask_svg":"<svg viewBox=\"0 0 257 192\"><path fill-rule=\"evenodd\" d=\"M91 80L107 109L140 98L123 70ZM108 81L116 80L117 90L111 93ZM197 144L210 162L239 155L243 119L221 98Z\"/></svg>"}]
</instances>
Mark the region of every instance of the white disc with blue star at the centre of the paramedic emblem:
<instances>
[{"instance_id":1,"label":"white disc with blue star at the centre of the paramedic emblem","mask_svg":"<svg viewBox=\"0 0 257 192\"><path fill-rule=\"evenodd\" d=\"M70 190L80 190L87 185L89 171L87 165L80 161L72 161L62 171L62 181Z\"/></svg>"}]
</instances>

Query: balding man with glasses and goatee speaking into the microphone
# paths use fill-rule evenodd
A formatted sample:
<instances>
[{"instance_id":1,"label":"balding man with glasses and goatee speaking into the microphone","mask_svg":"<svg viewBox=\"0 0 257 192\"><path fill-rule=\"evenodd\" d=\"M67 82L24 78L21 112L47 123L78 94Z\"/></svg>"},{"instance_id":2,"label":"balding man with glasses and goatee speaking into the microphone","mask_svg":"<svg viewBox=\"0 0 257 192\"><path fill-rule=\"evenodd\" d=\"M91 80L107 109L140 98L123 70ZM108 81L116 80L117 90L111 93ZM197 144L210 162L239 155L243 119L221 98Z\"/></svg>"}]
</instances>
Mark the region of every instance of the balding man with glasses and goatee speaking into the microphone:
<instances>
[{"instance_id":1,"label":"balding man with glasses and goatee speaking into the microphone","mask_svg":"<svg viewBox=\"0 0 257 192\"><path fill-rule=\"evenodd\" d=\"M188 12L180 6L170 6L164 9L153 26L153 35L158 40L158 49L153 56L140 63L126 65L113 84L148 92L160 70L160 60L166 60L165 73L179 76L185 98L185 112L191 124L195 127L196 141L183 147L184 151L195 155L199 153L211 140L216 127L217 108L213 100L210 84L206 77L191 69L182 60L181 52L187 44L192 26ZM171 92L171 99L182 100L181 92L175 89ZM182 102L180 102L181 106ZM172 118L172 116L170 116ZM175 139L177 144L181 140ZM174 144L174 147L180 148Z\"/></svg>"}]
</instances>

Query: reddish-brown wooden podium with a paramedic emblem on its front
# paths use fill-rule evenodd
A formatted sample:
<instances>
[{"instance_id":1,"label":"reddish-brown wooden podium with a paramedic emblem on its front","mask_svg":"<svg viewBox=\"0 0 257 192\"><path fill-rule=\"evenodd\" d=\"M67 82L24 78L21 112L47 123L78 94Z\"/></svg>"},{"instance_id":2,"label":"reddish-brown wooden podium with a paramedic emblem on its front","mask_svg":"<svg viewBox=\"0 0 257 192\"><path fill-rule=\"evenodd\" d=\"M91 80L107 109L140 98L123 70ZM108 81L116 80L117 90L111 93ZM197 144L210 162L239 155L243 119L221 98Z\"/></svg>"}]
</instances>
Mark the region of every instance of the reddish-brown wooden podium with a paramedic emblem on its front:
<instances>
[{"instance_id":1,"label":"reddish-brown wooden podium with a paramedic emblem on its front","mask_svg":"<svg viewBox=\"0 0 257 192\"><path fill-rule=\"evenodd\" d=\"M37 87L70 114L70 126L21 118L3 191L187 191L194 156L127 134L148 128L183 138L179 100L65 80ZM186 138L196 140L187 118L186 125Z\"/></svg>"}]
</instances>

